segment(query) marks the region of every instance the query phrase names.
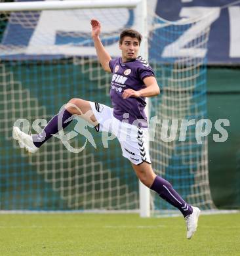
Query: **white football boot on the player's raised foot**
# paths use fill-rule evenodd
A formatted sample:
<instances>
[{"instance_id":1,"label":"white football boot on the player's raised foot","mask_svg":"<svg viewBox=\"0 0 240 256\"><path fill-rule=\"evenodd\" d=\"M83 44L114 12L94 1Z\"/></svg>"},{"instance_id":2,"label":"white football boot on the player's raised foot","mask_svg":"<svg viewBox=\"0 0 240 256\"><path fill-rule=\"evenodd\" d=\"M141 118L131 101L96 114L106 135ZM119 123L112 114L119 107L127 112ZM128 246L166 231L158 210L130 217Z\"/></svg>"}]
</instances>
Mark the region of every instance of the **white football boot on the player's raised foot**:
<instances>
[{"instance_id":1,"label":"white football boot on the player's raised foot","mask_svg":"<svg viewBox=\"0 0 240 256\"><path fill-rule=\"evenodd\" d=\"M12 137L13 139L18 140L20 148L26 148L26 150L30 153L35 153L37 150L39 150L39 148L33 144L33 138L31 135L20 131L20 129L16 126L13 127Z\"/></svg>"}]
</instances>

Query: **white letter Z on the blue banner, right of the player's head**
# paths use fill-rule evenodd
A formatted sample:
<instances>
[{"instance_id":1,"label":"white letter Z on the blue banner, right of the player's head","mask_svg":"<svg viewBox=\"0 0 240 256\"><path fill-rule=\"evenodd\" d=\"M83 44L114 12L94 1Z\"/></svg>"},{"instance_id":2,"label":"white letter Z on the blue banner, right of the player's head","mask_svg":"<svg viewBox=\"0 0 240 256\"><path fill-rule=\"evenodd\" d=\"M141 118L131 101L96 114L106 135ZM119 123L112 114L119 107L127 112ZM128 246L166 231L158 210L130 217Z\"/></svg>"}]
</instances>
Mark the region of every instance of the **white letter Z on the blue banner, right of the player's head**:
<instances>
[{"instance_id":1,"label":"white letter Z on the blue banner, right of the player's head","mask_svg":"<svg viewBox=\"0 0 240 256\"><path fill-rule=\"evenodd\" d=\"M186 32L184 32L176 41L170 43L163 50L162 56L167 58L195 56L203 58L207 54L207 49L201 49L196 47L188 47L186 45L193 39L207 30L207 28L220 16L220 7L184 7L180 12L180 17L193 18L196 16L205 16L208 13L207 18L197 22L197 24L191 26Z\"/></svg>"}]
</instances>

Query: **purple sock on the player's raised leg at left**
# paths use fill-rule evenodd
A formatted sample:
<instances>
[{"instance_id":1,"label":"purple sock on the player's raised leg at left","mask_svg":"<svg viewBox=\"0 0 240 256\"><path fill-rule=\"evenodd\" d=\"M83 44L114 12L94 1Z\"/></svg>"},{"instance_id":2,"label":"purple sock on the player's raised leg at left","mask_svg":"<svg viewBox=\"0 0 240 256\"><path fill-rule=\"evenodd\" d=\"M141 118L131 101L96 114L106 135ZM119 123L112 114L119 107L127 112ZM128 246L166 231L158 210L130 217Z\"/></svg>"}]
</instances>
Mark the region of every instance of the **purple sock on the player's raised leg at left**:
<instances>
[{"instance_id":1,"label":"purple sock on the player's raised leg at left","mask_svg":"<svg viewBox=\"0 0 240 256\"><path fill-rule=\"evenodd\" d=\"M68 112L68 110L66 110L66 108L63 108L62 110L60 110L60 112L52 117L52 119L50 119L49 123L47 123L47 126L43 129L43 131L39 134L36 135L32 135L33 137L33 144L37 147L40 148L40 146L45 143L48 139L50 139L50 137L52 137L52 135L58 133L58 122L59 125L62 129L64 129L65 127L67 127L71 121L67 121L70 117L72 116L72 114L70 112Z\"/></svg>"}]
</instances>

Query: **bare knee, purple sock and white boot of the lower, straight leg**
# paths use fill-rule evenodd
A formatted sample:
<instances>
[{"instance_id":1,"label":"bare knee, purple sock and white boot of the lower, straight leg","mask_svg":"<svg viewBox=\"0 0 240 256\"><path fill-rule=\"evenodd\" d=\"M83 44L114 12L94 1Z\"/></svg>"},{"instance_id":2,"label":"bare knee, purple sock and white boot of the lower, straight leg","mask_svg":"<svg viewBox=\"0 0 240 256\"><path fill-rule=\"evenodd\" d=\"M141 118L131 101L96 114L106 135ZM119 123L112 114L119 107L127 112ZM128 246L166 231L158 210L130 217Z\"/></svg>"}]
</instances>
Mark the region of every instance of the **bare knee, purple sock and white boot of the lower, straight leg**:
<instances>
[{"instance_id":1,"label":"bare knee, purple sock and white boot of the lower, straight leg","mask_svg":"<svg viewBox=\"0 0 240 256\"><path fill-rule=\"evenodd\" d=\"M187 238L190 239L197 230L197 221L200 210L197 207L193 207L185 202L182 197L172 188L172 185L165 179L155 175L151 164L142 162L140 165L132 163L132 167L140 181L148 186L151 190L154 190L165 201L178 208L184 218L187 225Z\"/></svg>"}]
</instances>

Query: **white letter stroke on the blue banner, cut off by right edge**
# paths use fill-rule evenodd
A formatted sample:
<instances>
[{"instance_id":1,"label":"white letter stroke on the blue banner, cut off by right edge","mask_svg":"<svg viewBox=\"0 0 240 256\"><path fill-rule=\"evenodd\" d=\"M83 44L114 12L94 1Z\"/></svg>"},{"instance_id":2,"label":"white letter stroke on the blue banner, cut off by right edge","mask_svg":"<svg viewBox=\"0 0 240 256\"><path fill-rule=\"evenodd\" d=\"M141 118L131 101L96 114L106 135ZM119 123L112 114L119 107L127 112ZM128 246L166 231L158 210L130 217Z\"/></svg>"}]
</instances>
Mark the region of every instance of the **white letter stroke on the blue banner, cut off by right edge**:
<instances>
[{"instance_id":1,"label":"white letter stroke on the blue banner, cut off by right edge","mask_svg":"<svg viewBox=\"0 0 240 256\"><path fill-rule=\"evenodd\" d=\"M229 7L230 16L230 58L240 57L240 7Z\"/></svg>"}]
</instances>

